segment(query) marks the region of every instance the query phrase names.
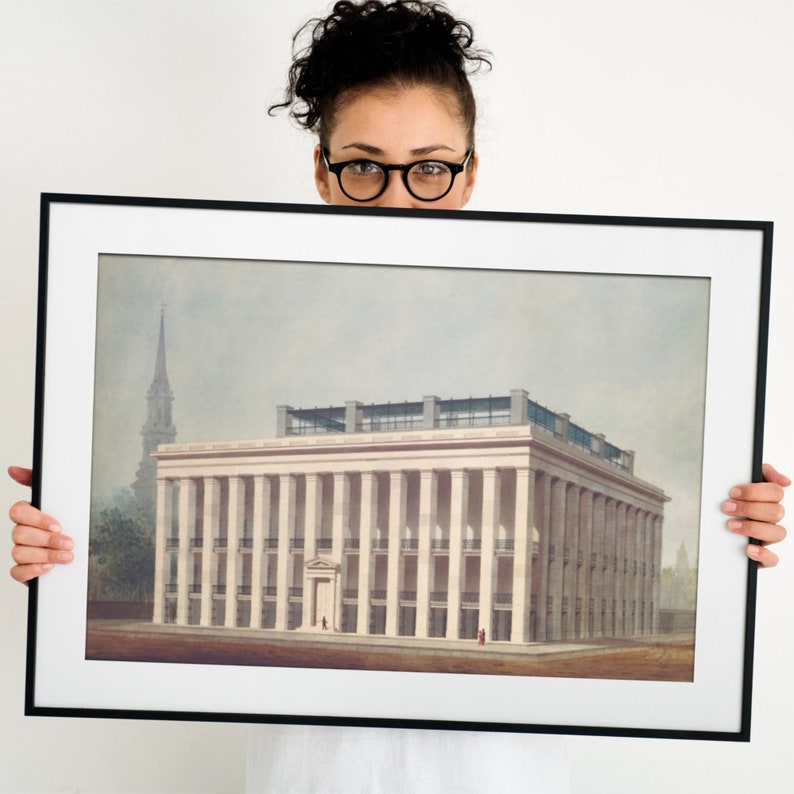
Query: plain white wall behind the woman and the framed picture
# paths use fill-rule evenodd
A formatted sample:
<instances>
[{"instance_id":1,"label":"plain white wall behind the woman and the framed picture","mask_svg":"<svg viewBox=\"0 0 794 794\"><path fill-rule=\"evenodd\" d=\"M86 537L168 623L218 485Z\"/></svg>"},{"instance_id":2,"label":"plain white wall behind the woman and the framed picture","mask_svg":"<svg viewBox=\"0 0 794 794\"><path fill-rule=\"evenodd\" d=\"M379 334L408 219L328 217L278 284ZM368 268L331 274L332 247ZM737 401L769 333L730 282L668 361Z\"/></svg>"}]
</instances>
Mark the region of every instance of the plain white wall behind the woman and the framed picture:
<instances>
[{"instance_id":1,"label":"plain white wall behind the woman and the framed picture","mask_svg":"<svg viewBox=\"0 0 794 794\"><path fill-rule=\"evenodd\" d=\"M479 83L473 208L775 222L766 458L794 473L794 4L453 7L496 56ZM311 138L265 107L292 33L323 10L0 0L3 465L31 457L39 194L315 202ZM25 496L0 477L4 511ZM791 791L794 576L781 551L760 577L753 741L572 737L574 791ZM243 788L245 726L24 718L25 588L0 576L0 603L0 790Z\"/></svg>"}]
</instances>

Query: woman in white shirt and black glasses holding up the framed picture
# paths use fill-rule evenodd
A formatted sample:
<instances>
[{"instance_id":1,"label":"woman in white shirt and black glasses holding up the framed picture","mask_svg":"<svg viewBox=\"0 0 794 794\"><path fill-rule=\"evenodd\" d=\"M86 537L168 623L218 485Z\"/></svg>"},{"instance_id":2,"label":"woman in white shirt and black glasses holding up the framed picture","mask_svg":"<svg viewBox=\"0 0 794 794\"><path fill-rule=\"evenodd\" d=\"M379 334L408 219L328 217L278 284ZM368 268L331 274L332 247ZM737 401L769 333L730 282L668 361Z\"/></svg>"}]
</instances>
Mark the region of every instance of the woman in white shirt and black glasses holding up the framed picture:
<instances>
[{"instance_id":1,"label":"woman in white shirt and black glasses holding up the framed picture","mask_svg":"<svg viewBox=\"0 0 794 794\"><path fill-rule=\"evenodd\" d=\"M303 33L309 46L297 54L285 100L273 109L290 108L317 134L320 197L330 204L464 207L479 166L468 74L488 65L471 28L426 3L340 2ZM30 470L9 473L30 484ZM767 544L785 534L779 503L790 481L771 466L764 476L765 483L732 489L723 510L731 531L761 542L749 545L748 555L771 566L777 557ZM15 579L29 581L72 560L73 542L54 518L24 502L10 516ZM559 741L540 736L263 726L252 732L249 769L254 776L265 770L269 790L353 790L363 778L370 791L467 791L482 788L477 770L487 759L489 788L505 791L520 781L524 790L552 791L563 755L564 745L561 752Z\"/></svg>"}]
</instances>

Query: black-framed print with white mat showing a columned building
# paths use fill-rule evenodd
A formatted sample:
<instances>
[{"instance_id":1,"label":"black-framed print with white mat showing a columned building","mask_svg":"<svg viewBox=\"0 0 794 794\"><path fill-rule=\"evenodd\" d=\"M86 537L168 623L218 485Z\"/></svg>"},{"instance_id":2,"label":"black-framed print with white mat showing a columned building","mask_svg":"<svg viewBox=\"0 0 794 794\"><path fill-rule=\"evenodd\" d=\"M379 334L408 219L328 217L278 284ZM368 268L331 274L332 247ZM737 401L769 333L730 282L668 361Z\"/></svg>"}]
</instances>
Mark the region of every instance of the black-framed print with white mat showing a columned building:
<instances>
[{"instance_id":1,"label":"black-framed print with white mat showing a columned building","mask_svg":"<svg viewBox=\"0 0 794 794\"><path fill-rule=\"evenodd\" d=\"M28 713L749 738L771 223L45 195L41 240Z\"/></svg>"}]
</instances>

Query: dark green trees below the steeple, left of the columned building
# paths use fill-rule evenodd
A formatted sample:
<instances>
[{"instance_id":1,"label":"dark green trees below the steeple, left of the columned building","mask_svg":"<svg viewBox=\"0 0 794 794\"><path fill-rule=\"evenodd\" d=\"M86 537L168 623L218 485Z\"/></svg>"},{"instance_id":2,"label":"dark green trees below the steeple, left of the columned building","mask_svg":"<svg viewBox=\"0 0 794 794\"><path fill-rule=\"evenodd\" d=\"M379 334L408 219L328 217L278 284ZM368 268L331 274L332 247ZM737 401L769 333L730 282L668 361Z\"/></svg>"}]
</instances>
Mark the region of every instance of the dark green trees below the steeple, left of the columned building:
<instances>
[{"instance_id":1,"label":"dark green trees below the steeple, left of the columned building","mask_svg":"<svg viewBox=\"0 0 794 794\"><path fill-rule=\"evenodd\" d=\"M154 515L130 490L92 510L89 597L151 601L154 585Z\"/></svg>"}]
</instances>

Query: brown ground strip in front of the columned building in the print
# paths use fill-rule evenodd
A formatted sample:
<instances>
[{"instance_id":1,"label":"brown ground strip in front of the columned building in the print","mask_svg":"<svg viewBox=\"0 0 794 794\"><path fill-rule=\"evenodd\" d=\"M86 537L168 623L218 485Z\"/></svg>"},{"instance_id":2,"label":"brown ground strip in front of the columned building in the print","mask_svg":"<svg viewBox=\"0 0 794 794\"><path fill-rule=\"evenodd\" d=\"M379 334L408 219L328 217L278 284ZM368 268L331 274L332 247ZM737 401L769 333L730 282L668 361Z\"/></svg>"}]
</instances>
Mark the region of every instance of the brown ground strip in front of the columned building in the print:
<instances>
[{"instance_id":1,"label":"brown ground strip in front of the columned building in the print","mask_svg":"<svg viewBox=\"0 0 794 794\"><path fill-rule=\"evenodd\" d=\"M91 620L86 658L400 672L691 681L694 640L663 635L511 645L475 641L256 632Z\"/></svg>"}]
</instances>

